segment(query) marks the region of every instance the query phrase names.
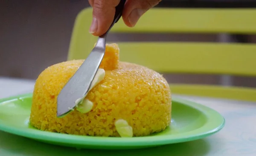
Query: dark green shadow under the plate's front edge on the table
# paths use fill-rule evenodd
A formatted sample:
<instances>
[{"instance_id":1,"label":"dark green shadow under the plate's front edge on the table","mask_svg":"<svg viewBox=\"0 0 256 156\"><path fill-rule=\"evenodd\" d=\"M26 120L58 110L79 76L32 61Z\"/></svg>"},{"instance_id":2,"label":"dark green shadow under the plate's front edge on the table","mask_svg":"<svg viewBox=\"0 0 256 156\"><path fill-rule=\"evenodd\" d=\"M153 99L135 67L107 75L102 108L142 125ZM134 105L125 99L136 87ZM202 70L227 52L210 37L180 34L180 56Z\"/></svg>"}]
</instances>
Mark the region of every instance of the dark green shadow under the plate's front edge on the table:
<instances>
[{"instance_id":1,"label":"dark green shadow under the plate's front edge on the table","mask_svg":"<svg viewBox=\"0 0 256 156\"><path fill-rule=\"evenodd\" d=\"M160 147L145 148L139 150L77 150L70 147L62 147L37 142L32 139L15 136L0 131L1 156L204 156L210 149L207 139L184 142Z\"/></svg>"}]
</instances>

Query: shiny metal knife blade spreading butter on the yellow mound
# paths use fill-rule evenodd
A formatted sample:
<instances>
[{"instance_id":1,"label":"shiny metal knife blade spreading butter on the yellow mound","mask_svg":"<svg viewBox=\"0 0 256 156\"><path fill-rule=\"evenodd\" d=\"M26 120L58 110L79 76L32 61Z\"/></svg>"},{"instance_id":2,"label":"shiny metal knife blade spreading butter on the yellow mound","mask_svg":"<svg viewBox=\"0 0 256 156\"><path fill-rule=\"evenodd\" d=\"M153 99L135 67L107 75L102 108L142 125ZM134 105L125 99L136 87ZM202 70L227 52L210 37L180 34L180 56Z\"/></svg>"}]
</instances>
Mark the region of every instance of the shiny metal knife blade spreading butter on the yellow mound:
<instances>
[{"instance_id":1,"label":"shiny metal knife blade spreading butter on the yellow mound","mask_svg":"<svg viewBox=\"0 0 256 156\"><path fill-rule=\"evenodd\" d=\"M99 65L105 54L105 47L95 47L67 82L57 98L57 116L62 117L76 107L76 100L87 94Z\"/></svg>"}]
</instances>

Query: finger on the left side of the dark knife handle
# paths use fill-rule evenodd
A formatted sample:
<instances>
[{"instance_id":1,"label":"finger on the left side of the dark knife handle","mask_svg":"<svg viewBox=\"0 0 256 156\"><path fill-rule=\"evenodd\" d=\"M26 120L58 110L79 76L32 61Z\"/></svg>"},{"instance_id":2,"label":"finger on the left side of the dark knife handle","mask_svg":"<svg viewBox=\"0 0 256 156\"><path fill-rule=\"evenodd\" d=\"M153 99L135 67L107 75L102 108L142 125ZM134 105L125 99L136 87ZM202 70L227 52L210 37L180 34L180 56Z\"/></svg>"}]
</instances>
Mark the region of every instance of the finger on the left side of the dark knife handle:
<instances>
[{"instance_id":1,"label":"finger on the left side of the dark knife handle","mask_svg":"<svg viewBox=\"0 0 256 156\"><path fill-rule=\"evenodd\" d=\"M115 7L120 0L94 0L93 1L93 21L90 27L90 33L95 36L104 34L115 16Z\"/></svg>"}]
</instances>

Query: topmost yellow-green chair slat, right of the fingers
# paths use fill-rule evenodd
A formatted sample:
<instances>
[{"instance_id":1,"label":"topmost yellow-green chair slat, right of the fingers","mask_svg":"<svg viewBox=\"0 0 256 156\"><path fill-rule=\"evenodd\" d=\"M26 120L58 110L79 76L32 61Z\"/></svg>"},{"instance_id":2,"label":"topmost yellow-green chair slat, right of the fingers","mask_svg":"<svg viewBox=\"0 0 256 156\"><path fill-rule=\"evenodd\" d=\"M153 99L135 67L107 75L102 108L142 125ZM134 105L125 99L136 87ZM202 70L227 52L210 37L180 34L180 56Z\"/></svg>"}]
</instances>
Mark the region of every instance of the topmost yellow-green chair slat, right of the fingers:
<instances>
[{"instance_id":1,"label":"topmost yellow-green chair slat, right of the fingers","mask_svg":"<svg viewBox=\"0 0 256 156\"><path fill-rule=\"evenodd\" d=\"M151 9L134 28L112 32L256 33L256 9Z\"/></svg>"}]
</instances>

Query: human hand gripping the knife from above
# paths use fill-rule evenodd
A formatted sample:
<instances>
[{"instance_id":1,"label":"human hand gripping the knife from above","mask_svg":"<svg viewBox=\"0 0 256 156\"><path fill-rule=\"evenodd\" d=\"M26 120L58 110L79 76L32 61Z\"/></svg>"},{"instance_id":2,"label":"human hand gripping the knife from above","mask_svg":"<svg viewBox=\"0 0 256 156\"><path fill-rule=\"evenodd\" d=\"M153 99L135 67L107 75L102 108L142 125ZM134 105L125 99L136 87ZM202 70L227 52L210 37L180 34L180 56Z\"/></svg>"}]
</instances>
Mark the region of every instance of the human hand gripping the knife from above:
<instances>
[{"instance_id":1,"label":"human hand gripping the knife from above","mask_svg":"<svg viewBox=\"0 0 256 156\"><path fill-rule=\"evenodd\" d=\"M140 17L156 6L161 0L126 0L122 19L126 26L134 27ZM89 32L95 36L104 34L115 15L115 7L120 0L89 0L90 6L93 7L93 21Z\"/></svg>"}]
</instances>

